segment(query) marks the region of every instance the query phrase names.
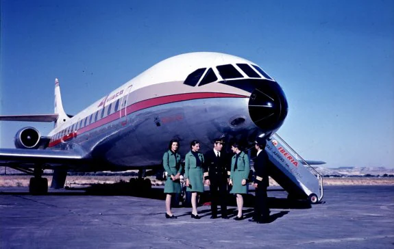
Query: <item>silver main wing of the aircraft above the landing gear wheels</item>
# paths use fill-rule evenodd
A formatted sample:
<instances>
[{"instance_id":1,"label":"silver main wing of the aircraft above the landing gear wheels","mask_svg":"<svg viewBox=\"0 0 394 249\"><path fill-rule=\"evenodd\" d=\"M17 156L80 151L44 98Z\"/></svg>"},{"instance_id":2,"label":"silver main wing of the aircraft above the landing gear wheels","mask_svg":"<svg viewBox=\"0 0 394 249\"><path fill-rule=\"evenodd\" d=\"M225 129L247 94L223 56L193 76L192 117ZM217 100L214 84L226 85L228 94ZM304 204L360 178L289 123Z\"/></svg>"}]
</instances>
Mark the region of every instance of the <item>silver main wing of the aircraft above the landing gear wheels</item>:
<instances>
[{"instance_id":1,"label":"silver main wing of the aircraft above the landing gear wheels","mask_svg":"<svg viewBox=\"0 0 394 249\"><path fill-rule=\"evenodd\" d=\"M0 165L30 168L34 163L45 164L46 168L86 163L83 153L76 150L32 150L23 148L0 148Z\"/></svg>"}]
</instances>

